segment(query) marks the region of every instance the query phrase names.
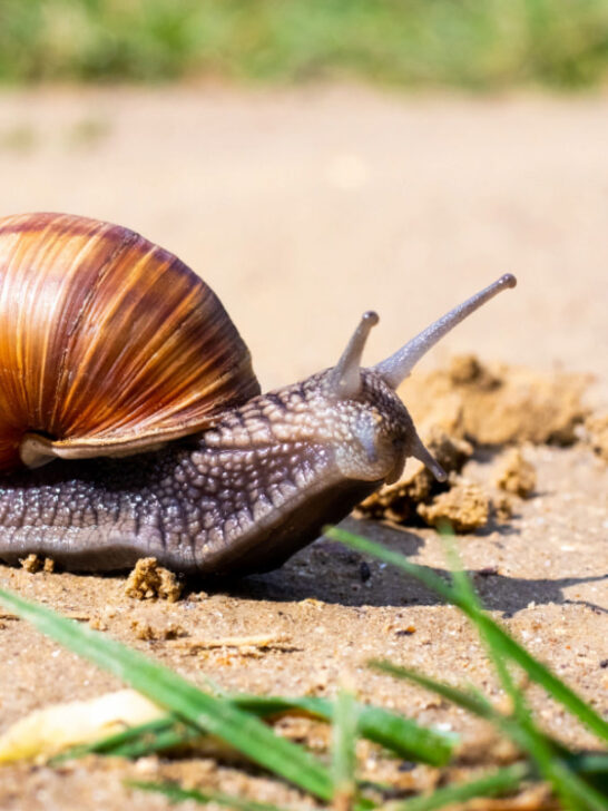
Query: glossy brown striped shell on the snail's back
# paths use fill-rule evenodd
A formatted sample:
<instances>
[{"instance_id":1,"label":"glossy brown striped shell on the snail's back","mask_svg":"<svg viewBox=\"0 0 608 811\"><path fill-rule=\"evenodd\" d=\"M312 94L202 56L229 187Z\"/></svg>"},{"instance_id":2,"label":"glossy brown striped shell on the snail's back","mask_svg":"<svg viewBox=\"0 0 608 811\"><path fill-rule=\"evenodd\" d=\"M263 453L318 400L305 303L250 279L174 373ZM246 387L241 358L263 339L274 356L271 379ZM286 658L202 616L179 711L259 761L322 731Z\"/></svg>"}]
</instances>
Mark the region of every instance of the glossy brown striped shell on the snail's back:
<instances>
[{"instance_id":1,"label":"glossy brown striped shell on the snail's back","mask_svg":"<svg viewBox=\"0 0 608 811\"><path fill-rule=\"evenodd\" d=\"M0 218L0 470L121 456L259 393L215 293L176 256L85 217Z\"/></svg>"}]
</instances>

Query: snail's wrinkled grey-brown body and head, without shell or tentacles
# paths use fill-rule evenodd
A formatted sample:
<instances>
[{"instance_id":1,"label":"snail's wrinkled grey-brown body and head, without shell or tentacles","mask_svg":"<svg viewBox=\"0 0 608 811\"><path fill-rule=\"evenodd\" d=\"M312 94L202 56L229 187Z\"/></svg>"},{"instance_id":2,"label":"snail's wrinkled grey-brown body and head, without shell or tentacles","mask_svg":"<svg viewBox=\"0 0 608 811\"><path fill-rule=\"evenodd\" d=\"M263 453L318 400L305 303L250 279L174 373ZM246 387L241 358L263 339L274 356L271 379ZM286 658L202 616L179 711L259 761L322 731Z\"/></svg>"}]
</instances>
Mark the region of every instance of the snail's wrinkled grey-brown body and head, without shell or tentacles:
<instances>
[{"instance_id":1,"label":"snail's wrinkled grey-brown body and head, without shell or tentacles","mask_svg":"<svg viewBox=\"0 0 608 811\"><path fill-rule=\"evenodd\" d=\"M249 400L203 433L124 459L56 461L0 483L0 559L30 553L76 570L154 556L242 575L280 566L401 471L415 432L382 379L355 399L327 372Z\"/></svg>"}]
</instances>

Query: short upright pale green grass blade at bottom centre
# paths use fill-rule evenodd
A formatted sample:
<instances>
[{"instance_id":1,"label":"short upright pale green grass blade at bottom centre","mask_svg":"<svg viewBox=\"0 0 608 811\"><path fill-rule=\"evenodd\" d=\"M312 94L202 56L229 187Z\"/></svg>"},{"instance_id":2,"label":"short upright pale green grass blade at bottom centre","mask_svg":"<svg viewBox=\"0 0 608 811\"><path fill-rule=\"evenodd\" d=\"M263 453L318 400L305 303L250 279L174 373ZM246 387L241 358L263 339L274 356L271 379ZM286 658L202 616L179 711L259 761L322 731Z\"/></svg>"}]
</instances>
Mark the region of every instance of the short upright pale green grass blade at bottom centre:
<instances>
[{"instance_id":1,"label":"short upright pale green grass blade at bottom centre","mask_svg":"<svg viewBox=\"0 0 608 811\"><path fill-rule=\"evenodd\" d=\"M333 805L335 809L351 809L355 799L356 716L357 709L353 694L347 690L341 690L334 705L332 726Z\"/></svg>"}]
</instances>

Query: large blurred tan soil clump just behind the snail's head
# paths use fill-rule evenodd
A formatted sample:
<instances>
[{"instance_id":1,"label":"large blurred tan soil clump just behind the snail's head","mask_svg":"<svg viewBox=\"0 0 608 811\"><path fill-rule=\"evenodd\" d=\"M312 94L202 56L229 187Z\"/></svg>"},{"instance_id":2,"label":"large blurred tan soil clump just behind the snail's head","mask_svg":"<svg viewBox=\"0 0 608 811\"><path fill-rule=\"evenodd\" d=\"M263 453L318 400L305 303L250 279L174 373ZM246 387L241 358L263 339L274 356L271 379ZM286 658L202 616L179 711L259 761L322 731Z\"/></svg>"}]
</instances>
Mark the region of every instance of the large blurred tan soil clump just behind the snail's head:
<instances>
[{"instance_id":1,"label":"large blurred tan soil clump just behind the snail's head","mask_svg":"<svg viewBox=\"0 0 608 811\"><path fill-rule=\"evenodd\" d=\"M540 373L458 355L445 369L414 374L399 389L414 422L475 444L572 444L588 416L585 374Z\"/></svg>"}]
</instances>

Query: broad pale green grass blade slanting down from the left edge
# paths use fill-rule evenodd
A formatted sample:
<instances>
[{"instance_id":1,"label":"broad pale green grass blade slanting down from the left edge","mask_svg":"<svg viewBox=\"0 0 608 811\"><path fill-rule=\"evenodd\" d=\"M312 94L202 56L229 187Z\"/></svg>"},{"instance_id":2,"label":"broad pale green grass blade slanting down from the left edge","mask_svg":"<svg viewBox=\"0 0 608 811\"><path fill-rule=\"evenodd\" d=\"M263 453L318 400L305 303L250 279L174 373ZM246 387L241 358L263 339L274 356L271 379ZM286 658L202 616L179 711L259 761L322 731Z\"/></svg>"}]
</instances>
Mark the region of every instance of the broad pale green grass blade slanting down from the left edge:
<instances>
[{"instance_id":1,"label":"broad pale green grass blade slanting down from the left edge","mask_svg":"<svg viewBox=\"0 0 608 811\"><path fill-rule=\"evenodd\" d=\"M0 589L0 602L56 642L112 673L186 722L217 735L254 763L322 800L332 798L327 769L304 749L278 737L258 719L231 702L203 693L137 651L48 608L3 589Z\"/></svg>"}]
</instances>

